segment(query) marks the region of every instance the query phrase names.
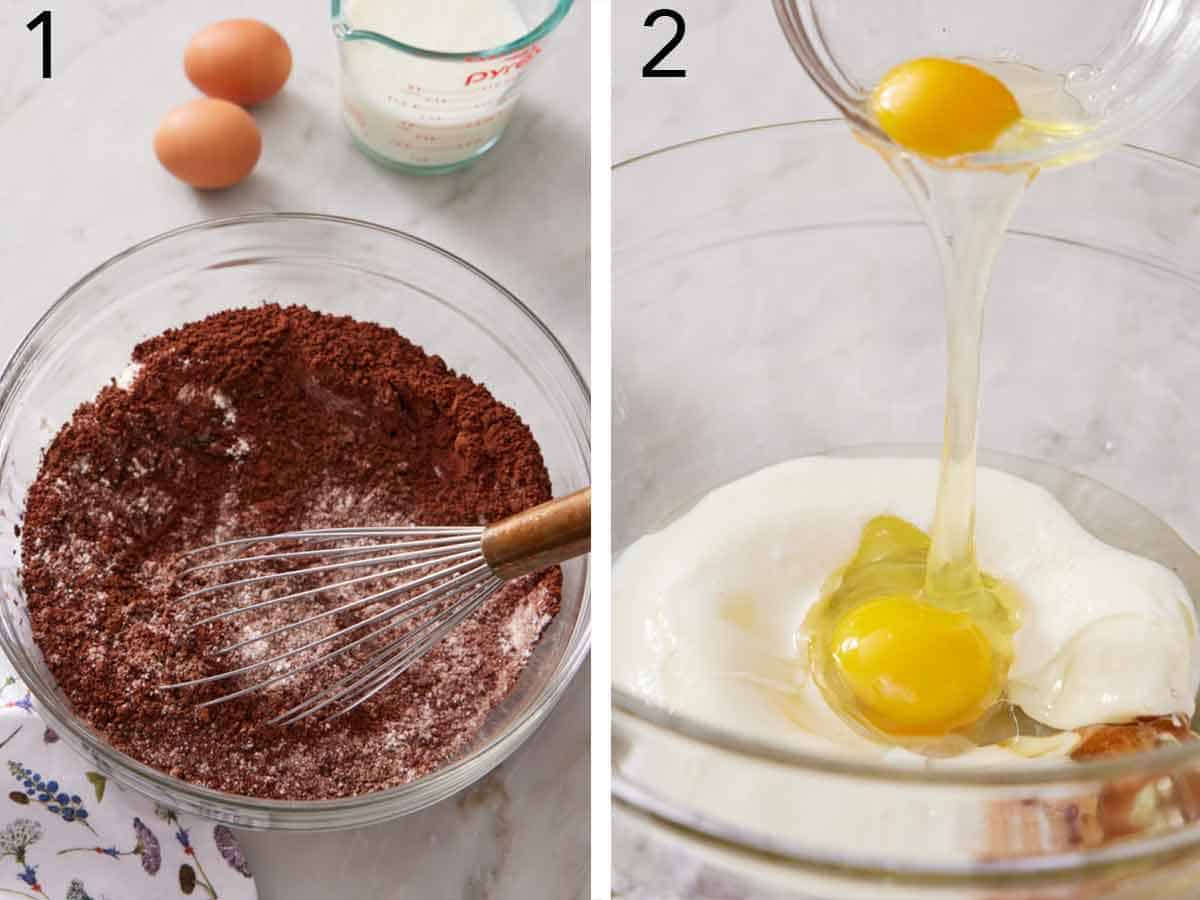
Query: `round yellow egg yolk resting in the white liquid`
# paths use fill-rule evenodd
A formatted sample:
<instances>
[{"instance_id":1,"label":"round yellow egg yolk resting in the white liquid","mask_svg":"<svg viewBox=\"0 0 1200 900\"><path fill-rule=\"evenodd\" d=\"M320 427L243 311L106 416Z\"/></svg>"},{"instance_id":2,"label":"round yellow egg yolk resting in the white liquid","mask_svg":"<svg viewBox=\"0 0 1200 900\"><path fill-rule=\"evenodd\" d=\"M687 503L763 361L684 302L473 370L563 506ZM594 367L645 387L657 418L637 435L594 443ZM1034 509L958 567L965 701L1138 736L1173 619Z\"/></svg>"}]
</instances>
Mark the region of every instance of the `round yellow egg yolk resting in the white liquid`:
<instances>
[{"instance_id":1,"label":"round yellow egg yolk resting in the white liquid","mask_svg":"<svg viewBox=\"0 0 1200 900\"><path fill-rule=\"evenodd\" d=\"M860 713L890 734L944 734L995 700L991 646L971 617L910 596L846 613L833 658Z\"/></svg>"}]
</instances>

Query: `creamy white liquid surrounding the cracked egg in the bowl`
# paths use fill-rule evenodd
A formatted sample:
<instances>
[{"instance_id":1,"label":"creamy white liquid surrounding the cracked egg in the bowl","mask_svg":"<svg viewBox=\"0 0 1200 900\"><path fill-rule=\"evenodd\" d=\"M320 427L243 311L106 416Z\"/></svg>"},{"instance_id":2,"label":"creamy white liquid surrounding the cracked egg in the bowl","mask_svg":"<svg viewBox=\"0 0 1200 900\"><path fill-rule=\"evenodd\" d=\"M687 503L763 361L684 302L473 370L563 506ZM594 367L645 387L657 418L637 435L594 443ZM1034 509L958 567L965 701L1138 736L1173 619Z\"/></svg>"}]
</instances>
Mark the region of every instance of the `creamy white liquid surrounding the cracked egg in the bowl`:
<instances>
[{"instance_id":1,"label":"creamy white liquid surrounding the cracked egg in the bowl","mask_svg":"<svg viewBox=\"0 0 1200 900\"><path fill-rule=\"evenodd\" d=\"M902 764L911 755L829 708L797 634L863 524L887 512L928 528L936 488L929 460L810 457L713 491L618 559L617 683L743 734ZM1063 731L1192 715L1200 638L1174 572L1097 540L1048 491L1007 473L979 470L977 506L980 565L1024 600L1009 700ZM1056 758L1072 746L979 748L956 762Z\"/></svg>"}]
</instances>

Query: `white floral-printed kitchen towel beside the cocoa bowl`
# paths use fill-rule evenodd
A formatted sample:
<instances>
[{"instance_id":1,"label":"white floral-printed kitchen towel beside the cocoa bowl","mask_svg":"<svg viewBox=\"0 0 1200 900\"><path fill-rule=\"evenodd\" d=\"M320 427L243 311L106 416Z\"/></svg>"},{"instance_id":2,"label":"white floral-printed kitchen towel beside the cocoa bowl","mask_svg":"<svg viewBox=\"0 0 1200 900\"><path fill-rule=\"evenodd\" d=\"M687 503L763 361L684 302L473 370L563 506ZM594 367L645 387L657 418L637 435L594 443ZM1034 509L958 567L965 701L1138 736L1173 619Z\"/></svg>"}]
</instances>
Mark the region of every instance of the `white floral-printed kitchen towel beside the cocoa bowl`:
<instances>
[{"instance_id":1,"label":"white floral-printed kitchen towel beside the cocoa bowl","mask_svg":"<svg viewBox=\"0 0 1200 900\"><path fill-rule=\"evenodd\" d=\"M0 654L0 900L257 900L224 826L108 781L41 721Z\"/></svg>"}]
</instances>

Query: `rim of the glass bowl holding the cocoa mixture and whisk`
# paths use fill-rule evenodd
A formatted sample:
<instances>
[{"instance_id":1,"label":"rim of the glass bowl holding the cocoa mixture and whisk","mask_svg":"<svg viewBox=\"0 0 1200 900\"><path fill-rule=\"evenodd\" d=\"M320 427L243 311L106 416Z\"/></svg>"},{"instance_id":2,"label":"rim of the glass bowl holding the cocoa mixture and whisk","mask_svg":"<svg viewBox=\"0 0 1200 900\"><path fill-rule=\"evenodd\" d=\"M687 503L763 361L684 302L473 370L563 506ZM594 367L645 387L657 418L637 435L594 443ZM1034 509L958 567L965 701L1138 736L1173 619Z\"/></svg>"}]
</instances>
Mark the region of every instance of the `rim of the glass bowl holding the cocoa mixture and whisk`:
<instances>
[{"instance_id":1,"label":"rim of the glass bowl holding the cocoa mixture and whisk","mask_svg":"<svg viewBox=\"0 0 1200 900\"><path fill-rule=\"evenodd\" d=\"M347 216L336 216L322 212L293 212L293 211L278 211L278 212L250 212L236 216L222 216L216 218L206 218L190 224L179 226L176 228L161 232L154 236L146 238L132 246L127 247L119 253L103 260L85 275L77 278L70 287L64 290L64 293L38 317L37 322L30 328L28 334L22 338L20 343L17 344L8 360L5 362L2 372L0 372L0 416L7 412L8 403L11 402L13 389L17 386L18 379L20 378L24 366L28 360L28 355L31 346L35 344L42 336L42 330L50 324L50 322L61 313L61 311L70 304L70 301L89 284L92 280L98 277L101 274L108 271L109 269L119 265L126 259L137 256L142 251L164 244L184 235L196 234L200 232L209 232L221 228L238 228L244 226L254 224L278 224L288 222L317 222L324 224L332 224L337 227L347 228L359 228L377 232L379 234L388 235L390 238L400 239L421 247L425 251L436 253L444 259L457 264L462 269L467 270L480 281L493 288L502 298L508 300L518 313L523 314L526 319L534 325L534 328L542 335L547 341L550 349L558 354L560 361L565 365L566 371L571 378L570 385L578 391L580 398L583 401L583 406L587 412L590 413L592 406L592 394L588 388L587 380L580 372L578 367L575 365L575 360L566 352L566 348L562 344L558 337L550 330L550 328L533 312L520 298L517 298L512 292L500 284L496 278L484 272L481 269L468 263L462 257L440 247L424 238L419 238L408 232L403 232L396 228L390 228L388 226L382 226L376 222L368 222L359 218L350 218ZM578 440L581 444L581 450L583 451L583 466L586 472L590 473L592 461L590 461L590 449L592 449L592 434L590 434L590 421L589 416L586 416L583 421L578 422L580 433ZM210 787L204 787L202 785L196 785L190 781L184 781L178 779L166 772L155 769L145 763L133 758L132 756L115 749L98 732L92 732L91 730L84 727L74 713L71 712L70 707L60 702L53 695L48 695L43 690L42 679L36 672L28 671L26 666L22 661L24 652L12 653L12 647L10 646L10 635L7 628L0 628L0 652L10 660L13 668L17 670L17 674L25 682L29 690L34 694L35 698L38 701L38 712L46 715L48 719L53 720L55 726L60 726L67 734L73 738L73 742L86 746L91 752L101 756L103 761L114 767L118 773L118 780L121 780L121 775L127 775L127 784L136 787L139 792L145 793L143 785L151 785L155 788L161 788L170 793L173 798L185 798L191 804L194 804L191 809L186 810L197 815L203 815L214 821L229 820L240 827L247 828L278 828L282 830L293 829L312 829L312 830L332 830L337 828L347 827L359 827L362 824L370 824L372 822L385 821L389 818L395 818L401 815L408 815L415 812L424 806L431 805L432 803L438 803L460 790L469 786L472 782L478 780L479 776L486 774L487 770L499 764L504 758L506 758L512 751L515 751L524 740L528 738L534 728L541 724L541 721L551 713L553 707L562 698L563 694L574 682L575 676L583 665L590 653L590 635L592 635L592 580L590 580L590 562L587 557L583 557L583 580L581 584L581 604L580 604L580 616L575 622L566 649L564 652L563 659L556 667L556 672L551 674L547 679L546 686L541 691L540 697L535 700L522 710L521 715L515 718L508 727L500 734L497 734L487 744L476 748L470 754L461 756L445 766L434 769L427 775L409 781L403 785L397 785L395 787L389 787L382 791L372 791L370 793L355 794L350 797L341 797L335 799L320 799L320 800L280 800L270 798L248 797L244 794L229 793L226 791L216 791ZM66 715L59 713L59 709ZM72 743L73 743L72 742ZM388 812L380 810L380 815L374 816L367 821L338 821L341 817L353 814L356 810L367 810L377 808L386 808L392 800L413 794L418 791L425 790L436 782L451 781L454 775L469 770L481 757L488 756L497 752L497 750L503 751L498 758L492 762L488 768L480 773L475 778L470 778L461 784L457 784L452 791L444 793L442 796L432 797L425 803L419 803L416 806L407 810L403 814ZM151 799L161 799L157 797L151 797ZM227 812L230 806L235 806L236 810L233 812ZM330 821L320 820L313 822L311 826L306 824L306 820L318 817L320 815L326 815L332 817ZM262 817L263 822L247 822L245 817Z\"/></svg>"}]
</instances>

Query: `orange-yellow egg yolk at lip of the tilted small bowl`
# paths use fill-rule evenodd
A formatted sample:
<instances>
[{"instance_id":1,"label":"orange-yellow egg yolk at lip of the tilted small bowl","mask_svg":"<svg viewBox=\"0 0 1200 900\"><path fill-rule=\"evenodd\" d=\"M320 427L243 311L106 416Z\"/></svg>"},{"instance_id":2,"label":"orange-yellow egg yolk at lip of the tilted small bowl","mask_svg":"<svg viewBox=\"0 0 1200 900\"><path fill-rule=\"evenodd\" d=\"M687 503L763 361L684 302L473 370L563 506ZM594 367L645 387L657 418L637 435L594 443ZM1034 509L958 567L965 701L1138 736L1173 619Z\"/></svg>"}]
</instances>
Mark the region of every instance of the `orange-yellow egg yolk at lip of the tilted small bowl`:
<instances>
[{"instance_id":1,"label":"orange-yellow egg yolk at lip of the tilted small bowl","mask_svg":"<svg viewBox=\"0 0 1200 900\"><path fill-rule=\"evenodd\" d=\"M884 74L871 94L871 112L900 146L932 157L989 150L1021 119L998 78L937 58L901 62Z\"/></svg>"}]
</instances>

